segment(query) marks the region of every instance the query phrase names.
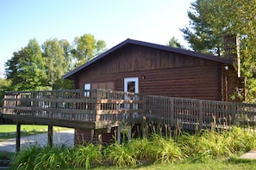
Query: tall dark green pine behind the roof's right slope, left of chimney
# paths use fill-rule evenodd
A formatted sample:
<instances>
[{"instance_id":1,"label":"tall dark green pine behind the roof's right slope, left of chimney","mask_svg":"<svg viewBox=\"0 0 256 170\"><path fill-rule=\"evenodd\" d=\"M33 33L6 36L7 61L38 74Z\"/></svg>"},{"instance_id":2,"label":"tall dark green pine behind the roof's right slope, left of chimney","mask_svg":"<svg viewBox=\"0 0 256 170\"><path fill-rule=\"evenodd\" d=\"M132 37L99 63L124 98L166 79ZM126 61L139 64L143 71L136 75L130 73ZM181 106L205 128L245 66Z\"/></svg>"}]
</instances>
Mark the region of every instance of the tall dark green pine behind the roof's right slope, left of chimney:
<instances>
[{"instance_id":1,"label":"tall dark green pine behind the roof's right slope, left of chimney","mask_svg":"<svg viewBox=\"0 0 256 170\"><path fill-rule=\"evenodd\" d=\"M208 19L204 17L206 13L211 13L209 8L211 0L197 0L191 3L188 16L190 18L190 27L184 27L181 32L184 33L184 39L190 43L190 48L195 52L213 53L220 56L222 52L222 33L218 28L209 24Z\"/></svg>"}]
</instances>

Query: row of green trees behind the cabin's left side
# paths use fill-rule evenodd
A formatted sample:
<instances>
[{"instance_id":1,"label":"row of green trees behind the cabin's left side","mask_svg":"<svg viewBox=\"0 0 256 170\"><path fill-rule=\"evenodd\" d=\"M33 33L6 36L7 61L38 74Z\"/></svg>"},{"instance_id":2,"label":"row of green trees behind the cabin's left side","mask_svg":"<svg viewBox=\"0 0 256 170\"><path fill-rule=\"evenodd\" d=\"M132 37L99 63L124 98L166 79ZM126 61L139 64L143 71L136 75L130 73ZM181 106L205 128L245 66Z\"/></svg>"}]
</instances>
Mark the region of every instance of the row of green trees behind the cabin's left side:
<instances>
[{"instance_id":1,"label":"row of green trees behind the cabin's left side","mask_svg":"<svg viewBox=\"0 0 256 170\"><path fill-rule=\"evenodd\" d=\"M104 52L106 43L91 34L84 34L75 38L73 44L71 46L66 39L47 39L39 46L36 39L29 39L28 45L13 52L13 57L5 63L8 83L1 87L0 99L6 90L73 88L73 81L64 80L62 76L73 66L84 64Z\"/></svg>"}]
</instances>

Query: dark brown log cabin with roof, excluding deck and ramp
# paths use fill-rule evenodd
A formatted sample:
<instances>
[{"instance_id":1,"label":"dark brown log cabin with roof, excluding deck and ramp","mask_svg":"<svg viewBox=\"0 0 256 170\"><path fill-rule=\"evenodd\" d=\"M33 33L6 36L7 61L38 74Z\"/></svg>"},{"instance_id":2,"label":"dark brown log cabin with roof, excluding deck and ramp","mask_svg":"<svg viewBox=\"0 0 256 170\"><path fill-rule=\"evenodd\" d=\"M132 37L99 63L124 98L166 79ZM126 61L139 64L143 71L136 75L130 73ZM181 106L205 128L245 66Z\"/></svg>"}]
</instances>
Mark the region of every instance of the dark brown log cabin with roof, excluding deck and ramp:
<instances>
[{"instance_id":1,"label":"dark brown log cabin with roof, excluding deck and ramp","mask_svg":"<svg viewBox=\"0 0 256 170\"><path fill-rule=\"evenodd\" d=\"M126 39L64 78L74 80L76 89L103 88L199 100L244 100L245 82L237 73L234 58ZM103 134L105 141L113 136L114 130ZM76 129L76 135L88 138L91 131Z\"/></svg>"}]
</instances>

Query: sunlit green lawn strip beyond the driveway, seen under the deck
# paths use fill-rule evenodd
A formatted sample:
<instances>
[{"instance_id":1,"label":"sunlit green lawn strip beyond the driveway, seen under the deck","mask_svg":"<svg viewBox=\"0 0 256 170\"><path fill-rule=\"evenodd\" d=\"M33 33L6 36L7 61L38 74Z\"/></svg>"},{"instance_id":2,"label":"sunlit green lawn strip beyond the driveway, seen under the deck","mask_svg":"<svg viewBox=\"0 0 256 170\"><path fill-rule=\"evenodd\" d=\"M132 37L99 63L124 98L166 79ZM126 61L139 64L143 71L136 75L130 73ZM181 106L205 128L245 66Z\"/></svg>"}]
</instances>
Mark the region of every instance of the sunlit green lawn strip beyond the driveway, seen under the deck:
<instances>
[{"instance_id":1,"label":"sunlit green lawn strip beyond the driveway, seen under the deck","mask_svg":"<svg viewBox=\"0 0 256 170\"><path fill-rule=\"evenodd\" d=\"M26 137L38 133L46 133L48 130L47 125L34 125L34 124L22 124L21 136ZM53 126L53 131L66 131L71 130L69 128ZM16 137L16 124L0 124L0 142L9 138Z\"/></svg>"}]
</instances>

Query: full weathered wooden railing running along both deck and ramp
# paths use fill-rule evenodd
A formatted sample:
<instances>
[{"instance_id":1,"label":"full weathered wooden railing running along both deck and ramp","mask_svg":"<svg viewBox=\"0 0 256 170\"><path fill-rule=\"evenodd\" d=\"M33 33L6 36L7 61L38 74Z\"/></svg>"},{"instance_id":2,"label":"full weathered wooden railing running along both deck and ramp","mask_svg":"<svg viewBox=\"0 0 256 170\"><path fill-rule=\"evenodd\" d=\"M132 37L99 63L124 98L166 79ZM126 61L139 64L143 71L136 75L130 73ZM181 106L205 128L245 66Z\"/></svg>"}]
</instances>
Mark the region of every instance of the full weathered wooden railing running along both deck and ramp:
<instances>
[{"instance_id":1,"label":"full weathered wooden railing running along both deck and ramp","mask_svg":"<svg viewBox=\"0 0 256 170\"><path fill-rule=\"evenodd\" d=\"M256 104L192 100L110 90L6 92L3 117L29 124L109 130L128 124L167 124L195 130L255 125Z\"/></svg>"}]
</instances>

